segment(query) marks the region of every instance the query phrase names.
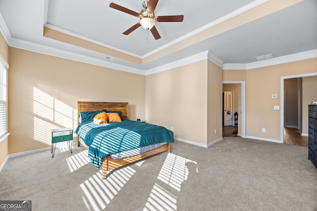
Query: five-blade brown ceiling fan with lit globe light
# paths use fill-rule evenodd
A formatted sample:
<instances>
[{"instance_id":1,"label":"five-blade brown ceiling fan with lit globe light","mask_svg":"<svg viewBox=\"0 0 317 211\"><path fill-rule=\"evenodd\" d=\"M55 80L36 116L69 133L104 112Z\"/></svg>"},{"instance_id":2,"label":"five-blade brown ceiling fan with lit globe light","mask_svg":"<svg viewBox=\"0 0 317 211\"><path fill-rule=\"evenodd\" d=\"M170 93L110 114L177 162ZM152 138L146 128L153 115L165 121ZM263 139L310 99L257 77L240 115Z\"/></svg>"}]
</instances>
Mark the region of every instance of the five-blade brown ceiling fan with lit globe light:
<instances>
[{"instance_id":1,"label":"five-blade brown ceiling fan with lit globe light","mask_svg":"<svg viewBox=\"0 0 317 211\"><path fill-rule=\"evenodd\" d=\"M119 11L128 13L130 15L136 16L140 18L140 22L133 25L131 28L129 28L127 31L123 32L124 35L128 35L140 26L142 26L145 30L149 31L151 30L155 40L159 40L159 32L155 28L155 21L157 22L182 22L184 19L184 15L168 15L168 16L155 16L154 10L157 6L159 0L146 0L143 1L142 5L143 8L140 13L137 13L135 11L132 11L128 8L125 8L123 6L120 6L116 3L110 3L110 7L113 9L117 9Z\"/></svg>"}]
</instances>

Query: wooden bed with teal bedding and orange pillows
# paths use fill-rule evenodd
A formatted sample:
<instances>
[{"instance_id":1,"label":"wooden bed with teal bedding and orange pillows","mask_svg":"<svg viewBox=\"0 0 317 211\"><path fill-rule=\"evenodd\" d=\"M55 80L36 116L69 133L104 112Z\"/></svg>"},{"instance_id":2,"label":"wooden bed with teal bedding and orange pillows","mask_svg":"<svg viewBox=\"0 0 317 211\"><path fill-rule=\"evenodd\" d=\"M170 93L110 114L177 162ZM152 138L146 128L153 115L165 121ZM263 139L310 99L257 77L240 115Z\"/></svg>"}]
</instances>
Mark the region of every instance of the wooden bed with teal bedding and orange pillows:
<instances>
[{"instance_id":1,"label":"wooden bed with teal bedding and orange pillows","mask_svg":"<svg viewBox=\"0 0 317 211\"><path fill-rule=\"evenodd\" d=\"M96 124L96 122L81 123L82 115L103 111L118 113L122 122L107 124ZM82 145L89 151L89 157L93 165L97 169L99 167L102 168L103 179L106 179L108 170L131 164L164 151L170 153L171 143L174 142L173 132L165 127L129 120L128 103L78 102L78 117L80 118L78 119L78 127L76 128L77 146ZM93 129L91 129L92 127ZM155 132L152 132L152 130L155 130ZM117 136L120 137L114 138ZM129 137L130 139L124 140L123 137ZM113 139L117 139L116 141L120 140L120 142L107 142ZM130 142L133 144L129 143L129 146L127 146L126 143L130 140L133 140ZM143 142L144 140L145 142ZM152 148L149 149L149 147ZM102 150L100 151L100 149ZM123 154L123 157L118 157L118 154Z\"/></svg>"}]
</instances>

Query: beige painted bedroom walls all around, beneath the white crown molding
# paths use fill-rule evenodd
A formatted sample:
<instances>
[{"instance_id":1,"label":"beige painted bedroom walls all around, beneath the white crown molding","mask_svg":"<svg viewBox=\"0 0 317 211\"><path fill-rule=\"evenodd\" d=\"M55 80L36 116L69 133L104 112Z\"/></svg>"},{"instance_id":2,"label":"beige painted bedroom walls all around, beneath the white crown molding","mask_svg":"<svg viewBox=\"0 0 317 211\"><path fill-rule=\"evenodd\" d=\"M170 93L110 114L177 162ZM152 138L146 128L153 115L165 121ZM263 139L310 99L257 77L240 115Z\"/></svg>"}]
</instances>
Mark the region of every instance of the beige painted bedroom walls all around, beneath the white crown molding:
<instances>
[{"instance_id":1,"label":"beige painted bedroom walls all around, beneath the white crown molding","mask_svg":"<svg viewBox=\"0 0 317 211\"><path fill-rule=\"evenodd\" d=\"M1 156L50 146L51 128L75 128L77 101L129 102L130 119L173 127L176 138L210 144L222 137L222 81L246 82L246 135L279 140L280 110L273 110L273 105L280 105L280 78L317 70L317 58L222 71L203 60L145 77L8 47L2 37L0 46L10 65L11 132L9 141L0 143ZM303 91L304 84L303 80ZM272 94L278 97L273 99ZM2 152L6 148L8 152Z\"/></svg>"}]
</instances>

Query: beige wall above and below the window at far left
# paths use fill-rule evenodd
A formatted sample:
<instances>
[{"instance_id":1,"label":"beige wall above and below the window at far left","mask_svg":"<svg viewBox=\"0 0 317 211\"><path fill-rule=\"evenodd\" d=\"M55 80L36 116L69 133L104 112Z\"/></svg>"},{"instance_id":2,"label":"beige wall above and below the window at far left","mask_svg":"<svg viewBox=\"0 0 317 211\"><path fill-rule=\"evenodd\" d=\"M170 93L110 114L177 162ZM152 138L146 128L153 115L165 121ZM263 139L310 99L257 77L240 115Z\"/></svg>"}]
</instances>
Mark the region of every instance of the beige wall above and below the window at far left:
<instances>
[{"instance_id":1,"label":"beige wall above and below the window at far left","mask_svg":"<svg viewBox=\"0 0 317 211\"><path fill-rule=\"evenodd\" d=\"M3 59L9 63L9 46L5 42L2 34L0 33L0 55L3 57ZM0 166L3 164L4 160L9 154L8 149L8 141L9 138L6 137L4 140L0 142Z\"/></svg>"}]
</instances>

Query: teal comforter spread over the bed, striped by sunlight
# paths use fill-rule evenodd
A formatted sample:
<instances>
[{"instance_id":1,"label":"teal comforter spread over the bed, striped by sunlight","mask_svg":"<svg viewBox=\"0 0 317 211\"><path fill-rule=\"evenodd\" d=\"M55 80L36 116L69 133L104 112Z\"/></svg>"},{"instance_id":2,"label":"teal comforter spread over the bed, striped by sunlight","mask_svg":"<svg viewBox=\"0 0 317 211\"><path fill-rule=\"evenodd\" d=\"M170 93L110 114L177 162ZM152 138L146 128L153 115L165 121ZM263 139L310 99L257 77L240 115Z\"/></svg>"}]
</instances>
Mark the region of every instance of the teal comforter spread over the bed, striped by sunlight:
<instances>
[{"instance_id":1,"label":"teal comforter spread over the bed, striped by sunlight","mask_svg":"<svg viewBox=\"0 0 317 211\"><path fill-rule=\"evenodd\" d=\"M89 146L88 156L99 169L104 157L156 143L173 143L174 134L162 126L124 120L107 124L80 124L77 135Z\"/></svg>"}]
</instances>

